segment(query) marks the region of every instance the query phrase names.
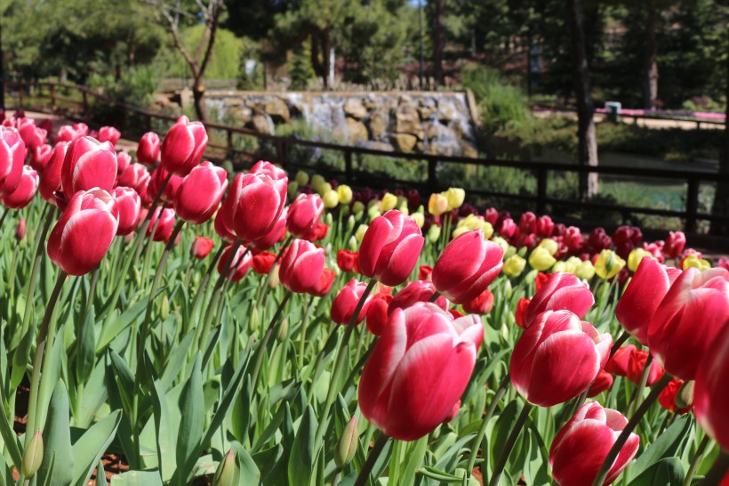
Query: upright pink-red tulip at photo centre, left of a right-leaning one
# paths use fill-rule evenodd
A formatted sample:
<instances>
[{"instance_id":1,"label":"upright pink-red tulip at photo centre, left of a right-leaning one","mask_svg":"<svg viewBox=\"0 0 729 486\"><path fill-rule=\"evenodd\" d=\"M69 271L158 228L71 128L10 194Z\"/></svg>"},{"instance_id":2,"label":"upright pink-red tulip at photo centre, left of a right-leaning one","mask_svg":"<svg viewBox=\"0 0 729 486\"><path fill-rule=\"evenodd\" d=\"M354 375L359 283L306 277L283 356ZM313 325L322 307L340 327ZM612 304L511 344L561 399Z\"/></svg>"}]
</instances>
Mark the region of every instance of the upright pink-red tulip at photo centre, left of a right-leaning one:
<instances>
[{"instance_id":1,"label":"upright pink-red tulip at photo centre, left of a right-leaning one","mask_svg":"<svg viewBox=\"0 0 729 486\"><path fill-rule=\"evenodd\" d=\"M359 269L365 277L400 285L418 263L425 239L412 217L390 210L374 218L359 248Z\"/></svg>"}]
</instances>

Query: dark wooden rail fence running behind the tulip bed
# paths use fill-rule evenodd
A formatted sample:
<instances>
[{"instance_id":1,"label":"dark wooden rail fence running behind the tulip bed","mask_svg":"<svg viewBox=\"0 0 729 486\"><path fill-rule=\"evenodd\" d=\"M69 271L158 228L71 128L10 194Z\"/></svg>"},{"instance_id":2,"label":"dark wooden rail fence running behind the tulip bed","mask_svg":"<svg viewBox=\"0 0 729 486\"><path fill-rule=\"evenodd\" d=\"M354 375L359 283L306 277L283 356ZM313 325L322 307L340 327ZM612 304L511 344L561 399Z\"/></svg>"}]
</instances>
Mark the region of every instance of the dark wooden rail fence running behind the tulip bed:
<instances>
[{"instance_id":1,"label":"dark wooden rail fence running behind the tulip bed","mask_svg":"<svg viewBox=\"0 0 729 486\"><path fill-rule=\"evenodd\" d=\"M100 93L96 93L85 86L79 85L65 85L60 83L8 83L8 87L15 93L11 93L11 97L14 97L18 101L18 108L41 108L48 109L49 107L43 105L30 106L30 103L24 101L36 100L49 100L51 101L50 109L53 111L59 110L59 103L65 103L67 105L74 105L76 109L80 110L80 115L83 117L87 115L92 107L91 99L95 101L112 102L109 101ZM32 90L32 96L28 98L28 93ZM80 93L80 97L68 98L59 95L59 91L63 90L66 92ZM24 93L27 92L27 93ZM138 131L149 131L153 127L154 120L161 120L166 123L172 123L177 117L172 115L166 115L162 113L156 113L147 109L140 109L124 103L114 103L121 109L124 109L128 113L136 114L145 120L142 126L131 127L132 131L136 128ZM83 118L79 118L83 119ZM705 122L702 122L705 123ZM225 133L224 144L220 143L209 143L209 150L215 153L209 154L218 159L232 159L238 161L254 161L258 156L258 152L251 150L243 150L236 148L234 141L234 135L245 135L254 137L258 141L268 142L269 145L273 144L276 147L276 154L273 157L270 155L268 159L272 162L279 163L283 166L293 168L308 168L312 167L306 164L301 164L300 161L294 161L287 157L287 154L294 147L308 147L318 150L331 150L340 154L340 157L344 161L343 170L332 169L330 173L338 178L341 178L341 182L346 182L350 185L359 186L377 186L381 183L381 187L385 188L417 188L423 190L428 194L429 192L435 192L439 190L445 190L449 187L447 181L443 181L439 177L439 173L443 172L443 168L448 165L457 166L493 166L493 167L507 167L519 171L525 177L534 177L536 179L536 191L532 193L511 193L499 190L483 190L479 188L467 188L469 194L476 194L477 196L485 198L503 198L507 200L527 202L533 205L533 210L538 214L544 214L547 211L548 205L551 207L580 207L603 211L614 211L621 215L623 221L629 218L629 215L655 215L663 217L676 217L684 220L683 230L686 233L696 233L698 223L701 221L708 221L711 224L724 224L729 226L729 216L725 215L710 215L707 213L701 213L699 208L699 194L701 184L716 184L717 193L722 188L729 188L729 174L718 174L716 172L693 172L687 170L655 170L647 168L635 168L635 167L618 167L618 166L577 166L564 163L549 163L549 162L533 162L533 161L514 161L514 160L502 160L495 158L466 158L466 157L449 157L443 155L431 155L423 153L405 153L395 152L389 150L375 150L365 147L356 147L349 145L341 145L338 143L329 142L313 142L307 140L300 140L292 137L281 137L270 134L261 134L254 130L237 127L227 126L217 123L205 123L208 130L220 131ZM129 133L129 131L127 131ZM413 161L413 162L425 162L427 167L426 174L421 181L408 181L401 180L393 177L379 177L375 174L369 174L360 170L356 170L354 166L354 158L356 156L371 156L375 158L397 158L399 160ZM563 173L563 174L576 174L578 177L584 174L598 174L599 176L613 176L622 177L629 179L652 179L652 180L664 180L671 181L673 183L685 184L685 209L684 210L673 210L673 209L662 209L656 207L633 207L625 206L620 204L612 204L608 202L598 201L582 201L573 198L557 198L549 195L549 173Z\"/></svg>"}]
</instances>

